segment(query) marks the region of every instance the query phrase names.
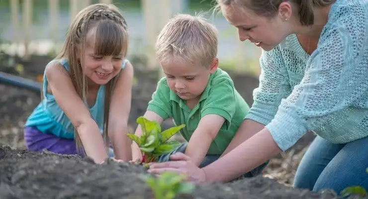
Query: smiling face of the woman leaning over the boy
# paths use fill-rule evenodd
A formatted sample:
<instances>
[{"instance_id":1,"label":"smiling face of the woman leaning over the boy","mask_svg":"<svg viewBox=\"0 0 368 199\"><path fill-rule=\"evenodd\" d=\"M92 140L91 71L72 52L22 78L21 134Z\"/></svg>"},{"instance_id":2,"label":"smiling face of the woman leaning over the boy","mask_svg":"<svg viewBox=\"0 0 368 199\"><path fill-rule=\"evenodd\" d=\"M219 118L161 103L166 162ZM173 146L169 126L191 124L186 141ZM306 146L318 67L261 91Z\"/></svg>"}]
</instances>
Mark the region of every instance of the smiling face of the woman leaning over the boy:
<instances>
[{"instance_id":1,"label":"smiling face of the woman leaning over the boy","mask_svg":"<svg viewBox=\"0 0 368 199\"><path fill-rule=\"evenodd\" d=\"M236 5L221 5L226 20L238 29L241 41L249 40L256 46L269 51L290 34L286 17L276 14L272 18L255 14L251 9Z\"/></svg>"}]
</instances>

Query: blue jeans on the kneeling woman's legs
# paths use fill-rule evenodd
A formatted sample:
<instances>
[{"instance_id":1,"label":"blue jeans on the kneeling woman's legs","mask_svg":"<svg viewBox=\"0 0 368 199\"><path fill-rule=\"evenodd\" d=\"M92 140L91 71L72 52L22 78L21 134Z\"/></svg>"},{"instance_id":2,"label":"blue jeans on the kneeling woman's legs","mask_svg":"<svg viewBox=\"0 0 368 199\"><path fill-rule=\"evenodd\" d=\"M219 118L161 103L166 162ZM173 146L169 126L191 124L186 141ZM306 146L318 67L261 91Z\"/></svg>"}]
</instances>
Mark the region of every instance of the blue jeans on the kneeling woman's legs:
<instances>
[{"instance_id":1,"label":"blue jeans on the kneeling woman's legs","mask_svg":"<svg viewBox=\"0 0 368 199\"><path fill-rule=\"evenodd\" d=\"M332 189L338 195L349 186L368 190L368 137L333 144L317 136L296 171L294 187L318 192Z\"/></svg>"}]
</instances>

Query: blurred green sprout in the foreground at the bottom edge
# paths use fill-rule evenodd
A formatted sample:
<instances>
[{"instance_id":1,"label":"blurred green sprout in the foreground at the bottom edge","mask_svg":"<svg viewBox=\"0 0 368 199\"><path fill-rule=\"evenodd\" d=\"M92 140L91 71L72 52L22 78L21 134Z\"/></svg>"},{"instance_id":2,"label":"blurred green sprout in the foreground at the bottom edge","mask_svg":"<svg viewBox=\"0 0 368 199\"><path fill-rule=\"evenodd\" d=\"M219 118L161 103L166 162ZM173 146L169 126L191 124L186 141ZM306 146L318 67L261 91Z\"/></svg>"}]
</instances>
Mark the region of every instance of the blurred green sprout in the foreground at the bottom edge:
<instances>
[{"instance_id":1,"label":"blurred green sprout in the foreground at the bottom edge","mask_svg":"<svg viewBox=\"0 0 368 199\"><path fill-rule=\"evenodd\" d=\"M165 172L158 177L143 175L141 178L151 188L155 199L174 199L178 194L190 194L195 188L194 184L183 182L183 174Z\"/></svg>"}]
</instances>

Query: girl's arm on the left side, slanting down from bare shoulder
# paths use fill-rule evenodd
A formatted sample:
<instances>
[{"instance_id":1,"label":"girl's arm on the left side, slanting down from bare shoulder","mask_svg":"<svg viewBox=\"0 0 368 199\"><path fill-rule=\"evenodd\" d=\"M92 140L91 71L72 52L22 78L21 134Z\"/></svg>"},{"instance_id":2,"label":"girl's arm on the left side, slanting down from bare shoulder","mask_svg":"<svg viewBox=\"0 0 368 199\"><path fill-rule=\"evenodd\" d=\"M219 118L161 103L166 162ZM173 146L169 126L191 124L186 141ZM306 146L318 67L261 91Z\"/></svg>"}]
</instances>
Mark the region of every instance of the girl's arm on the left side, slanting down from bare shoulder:
<instances>
[{"instance_id":1,"label":"girl's arm on the left side, slanting down from bare shoulder","mask_svg":"<svg viewBox=\"0 0 368 199\"><path fill-rule=\"evenodd\" d=\"M60 108L76 128L87 156L95 163L106 158L106 150L97 123L92 119L87 106L78 96L69 73L60 63L52 63L46 67L48 91L52 93Z\"/></svg>"}]
</instances>

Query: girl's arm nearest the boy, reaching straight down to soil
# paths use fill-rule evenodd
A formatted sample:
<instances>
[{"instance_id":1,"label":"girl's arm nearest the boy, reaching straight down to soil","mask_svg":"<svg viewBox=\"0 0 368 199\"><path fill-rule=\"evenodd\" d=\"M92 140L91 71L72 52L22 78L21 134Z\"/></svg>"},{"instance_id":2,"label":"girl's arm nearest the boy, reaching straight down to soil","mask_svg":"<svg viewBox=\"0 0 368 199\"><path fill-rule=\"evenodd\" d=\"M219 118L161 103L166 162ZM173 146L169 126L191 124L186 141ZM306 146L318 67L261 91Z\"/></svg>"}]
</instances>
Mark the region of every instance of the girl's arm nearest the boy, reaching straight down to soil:
<instances>
[{"instance_id":1,"label":"girl's arm nearest the boy, reaching straight down to soil","mask_svg":"<svg viewBox=\"0 0 368 199\"><path fill-rule=\"evenodd\" d=\"M131 141L126 133L132 99L133 73L133 66L127 62L115 84L109 110L108 136L115 159L123 161L129 161L132 158Z\"/></svg>"}]
</instances>

